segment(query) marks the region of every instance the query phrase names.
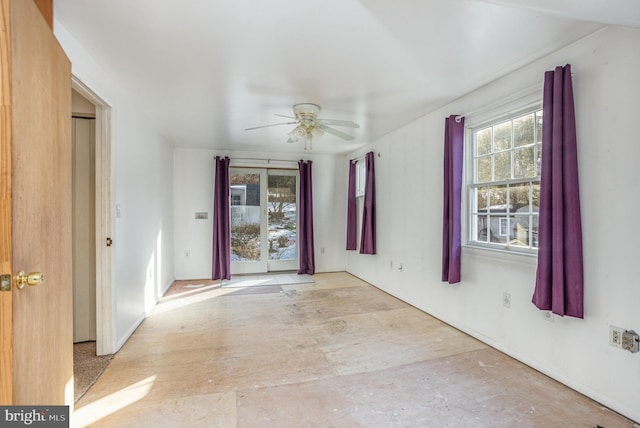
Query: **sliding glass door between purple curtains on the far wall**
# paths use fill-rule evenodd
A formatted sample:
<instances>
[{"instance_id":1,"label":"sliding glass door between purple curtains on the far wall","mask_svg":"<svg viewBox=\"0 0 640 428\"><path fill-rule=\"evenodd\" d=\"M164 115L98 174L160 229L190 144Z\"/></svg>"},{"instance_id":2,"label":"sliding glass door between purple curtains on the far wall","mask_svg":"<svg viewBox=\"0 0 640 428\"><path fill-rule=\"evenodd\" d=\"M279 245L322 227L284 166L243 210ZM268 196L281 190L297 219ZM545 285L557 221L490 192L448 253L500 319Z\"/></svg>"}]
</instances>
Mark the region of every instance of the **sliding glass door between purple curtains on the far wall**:
<instances>
[{"instance_id":1,"label":"sliding glass door between purple curtains on the far wall","mask_svg":"<svg viewBox=\"0 0 640 428\"><path fill-rule=\"evenodd\" d=\"M298 269L298 172L231 168L231 273Z\"/></svg>"}]
</instances>

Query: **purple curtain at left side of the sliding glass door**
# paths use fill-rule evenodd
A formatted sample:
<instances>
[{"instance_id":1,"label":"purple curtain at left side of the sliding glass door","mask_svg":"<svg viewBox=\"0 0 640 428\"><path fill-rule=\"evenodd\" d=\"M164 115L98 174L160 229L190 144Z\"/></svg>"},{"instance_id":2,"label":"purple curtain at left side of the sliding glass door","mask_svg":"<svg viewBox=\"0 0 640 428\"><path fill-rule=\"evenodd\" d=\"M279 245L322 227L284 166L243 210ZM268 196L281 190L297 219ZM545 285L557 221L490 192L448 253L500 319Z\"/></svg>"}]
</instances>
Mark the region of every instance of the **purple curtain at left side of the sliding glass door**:
<instances>
[{"instance_id":1,"label":"purple curtain at left side of the sliding glass door","mask_svg":"<svg viewBox=\"0 0 640 428\"><path fill-rule=\"evenodd\" d=\"M212 279L231 279L231 221L229 216L229 158L216 156L213 190Z\"/></svg>"}]
</instances>

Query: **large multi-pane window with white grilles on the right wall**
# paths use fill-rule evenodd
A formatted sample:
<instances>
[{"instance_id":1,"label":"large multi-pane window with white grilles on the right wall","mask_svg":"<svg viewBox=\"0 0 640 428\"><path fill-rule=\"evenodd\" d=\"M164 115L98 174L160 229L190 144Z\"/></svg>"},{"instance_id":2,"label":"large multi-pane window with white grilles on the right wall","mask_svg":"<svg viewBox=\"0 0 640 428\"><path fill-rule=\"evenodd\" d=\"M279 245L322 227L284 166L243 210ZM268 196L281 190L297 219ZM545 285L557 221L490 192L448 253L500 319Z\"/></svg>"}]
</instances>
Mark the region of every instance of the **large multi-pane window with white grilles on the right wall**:
<instances>
[{"instance_id":1,"label":"large multi-pane window with white grilles on the right wall","mask_svg":"<svg viewBox=\"0 0 640 428\"><path fill-rule=\"evenodd\" d=\"M470 245L533 252L538 248L542 111L470 129Z\"/></svg>"}]
</instances>

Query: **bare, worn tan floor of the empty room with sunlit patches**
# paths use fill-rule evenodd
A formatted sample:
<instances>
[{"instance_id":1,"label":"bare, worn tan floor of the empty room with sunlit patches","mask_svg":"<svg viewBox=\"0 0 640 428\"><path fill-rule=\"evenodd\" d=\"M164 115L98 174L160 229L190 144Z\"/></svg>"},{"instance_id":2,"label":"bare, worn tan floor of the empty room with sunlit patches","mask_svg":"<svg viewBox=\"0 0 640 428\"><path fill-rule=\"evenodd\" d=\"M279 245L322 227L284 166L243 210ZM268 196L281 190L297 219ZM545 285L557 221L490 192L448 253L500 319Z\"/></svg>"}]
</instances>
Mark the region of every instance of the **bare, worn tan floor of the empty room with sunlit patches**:
<instances>
[{"instance_id":1,"label":"bare, worn tan floor of the empty room with sunlit patches","mask_svg":"<svg viewBox=\"0 0 640 428\"><path fill-rule=\"evenodd\" d=\"M73 426L633 427L347 274L176 282Z\"/></svg>"}]
</instances>

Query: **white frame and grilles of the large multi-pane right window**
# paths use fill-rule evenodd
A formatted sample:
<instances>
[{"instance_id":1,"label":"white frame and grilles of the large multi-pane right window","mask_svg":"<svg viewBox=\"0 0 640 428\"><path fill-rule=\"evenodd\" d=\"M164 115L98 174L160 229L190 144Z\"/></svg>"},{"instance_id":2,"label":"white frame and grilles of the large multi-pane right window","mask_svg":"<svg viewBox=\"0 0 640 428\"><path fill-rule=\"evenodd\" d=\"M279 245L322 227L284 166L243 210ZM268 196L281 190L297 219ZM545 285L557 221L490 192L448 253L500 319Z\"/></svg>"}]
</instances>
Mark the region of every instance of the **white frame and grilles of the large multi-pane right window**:
<instances>
[{"instance_id":1,"label":"white frame and grilles of the large multi-pane right window","mask_svg":"<svg viewBox=\"0 0 640 428\"><path fill-rule=\"evenodd\" d=\"M530 246L524 247L519 245L510 245L507 239L506 243L498 242L482 242L472 239L472 233L474 232L473 220L477 212L473 211L472 197L473 192L478 187L491 187L498 185L510 185L515 186L517 184L529 184L529 189L532 189L531 183L540 183L540 171L535 177L526 177L518 179L507 180L495 180L478 183L475 182L475 158L476 158L476 144L474 141L474 133L487 127L498 125L502 122L514 120L519 117L537 113L542 111L542 97L541 92L531 88L526 95L520 98L512 99L503 105L499 105L492 109L486 109L479 114L465 117L465 155L464 155L464 170L463 170L463 195L462 195L462 212L464 220L462 220L462 233L463 233L463 246L466 248L474 248L480 251L492 251L500 253L508 253L515 255L525 256L537 256L538 247L531 247L533 238L530 238ZM535 124L534 124L535 127ZM540 136L539 141L542 140ZM537 141L534 141L534 147ZM541 146L540 146L541 148ZM511 146L512 160L513 160L513 142ZM493 153L493 149L492 149ZM536 161L536 152L534 149L534 162ZM513 162L511 165L513 171ZM492 177L495 179L495 177ZM530 190L531 191L531 190ZM508 195L508 194L507 194ZM508 195L509 196L509 195ZM531 219L532 213L536 212L532 207L532 197L529 195L529 211L527 215ZM490 214L490 212L489 212ZM503 214L506 217L507 227L510 227L511 222L516 218L516 213L511 212L509 214ZM491 217L488 216L488 219ZM498 220L498 226L502 226L502 220Z\"/></svg>"}]
</instances>

